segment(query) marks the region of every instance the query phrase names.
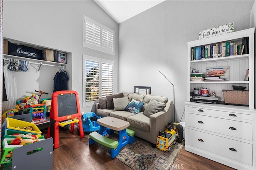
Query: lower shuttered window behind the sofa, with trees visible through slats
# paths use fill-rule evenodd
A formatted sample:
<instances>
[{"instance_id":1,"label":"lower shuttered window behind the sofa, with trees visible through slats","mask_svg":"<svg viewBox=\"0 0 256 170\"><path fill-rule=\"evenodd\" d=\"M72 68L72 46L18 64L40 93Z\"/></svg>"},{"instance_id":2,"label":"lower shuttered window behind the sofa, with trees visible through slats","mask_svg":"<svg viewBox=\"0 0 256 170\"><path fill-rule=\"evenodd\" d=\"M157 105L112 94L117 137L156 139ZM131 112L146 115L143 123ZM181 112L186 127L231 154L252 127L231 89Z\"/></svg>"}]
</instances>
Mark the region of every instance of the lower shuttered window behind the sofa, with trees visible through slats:
<instances>
[{"instance_id":1,"label":"lower shuttered window behind the sofa, with trees visible through slats","mask_svg":"<svg viewBox=\"0 0 256 170\"><path fill-rule=\"evenodd\" d=\"M114 61L83 56L83 107L113 94Z\"/></svg>"}]
</instances>

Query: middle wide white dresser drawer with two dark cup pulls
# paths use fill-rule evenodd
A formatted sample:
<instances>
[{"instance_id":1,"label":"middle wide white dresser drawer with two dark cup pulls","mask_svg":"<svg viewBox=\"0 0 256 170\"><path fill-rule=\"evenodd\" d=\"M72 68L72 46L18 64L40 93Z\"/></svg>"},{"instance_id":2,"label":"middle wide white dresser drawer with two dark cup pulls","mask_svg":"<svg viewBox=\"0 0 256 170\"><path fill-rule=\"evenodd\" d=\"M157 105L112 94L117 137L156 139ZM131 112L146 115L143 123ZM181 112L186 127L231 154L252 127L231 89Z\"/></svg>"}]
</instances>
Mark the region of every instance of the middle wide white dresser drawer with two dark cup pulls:
<instances>
[{"instance_id":1,"label":"middle wide white dresser drawer with two dark cup pulls","mask_svg":"<svg viewBox=\"0 0 256 170\"><path fill-rule=\"evenodd\" d=\"M252 123L188 113L188 126L252 141Z\"/></svg>"}]
</instances>

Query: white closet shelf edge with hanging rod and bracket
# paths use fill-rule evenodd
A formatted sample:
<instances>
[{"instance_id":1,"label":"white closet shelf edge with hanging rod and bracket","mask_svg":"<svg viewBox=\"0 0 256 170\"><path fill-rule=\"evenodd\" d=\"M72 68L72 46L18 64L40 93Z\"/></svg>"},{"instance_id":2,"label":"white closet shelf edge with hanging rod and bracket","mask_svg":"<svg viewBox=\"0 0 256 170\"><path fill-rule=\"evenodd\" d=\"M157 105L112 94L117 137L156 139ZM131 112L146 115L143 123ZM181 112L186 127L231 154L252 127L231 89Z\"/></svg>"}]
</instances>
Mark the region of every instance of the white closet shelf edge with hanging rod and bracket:
<instances>
[{"instance_id":1,"label":"white closet shelf edge with hanging rod and bracket","mask_svg":"<svg viewBox=\"0 0 256 170\"><path fill-rule=\"evenodd\" d=\"M16 59L16 60L23 60L23 61L29 61L30 64L37 64L37 70L40 71L40 68L42 65L46 65L46 66L66 66L67 64L64 63L56 63L56 62L51 62L51 61L44 61L44 60L38 60L38 59L30 59L30 58L26 58L26 57L18 57L18 56L14 56L14 55L7 55L4 54L4 59L8 60L8 59Z\"/></svg>"}]
</instances>

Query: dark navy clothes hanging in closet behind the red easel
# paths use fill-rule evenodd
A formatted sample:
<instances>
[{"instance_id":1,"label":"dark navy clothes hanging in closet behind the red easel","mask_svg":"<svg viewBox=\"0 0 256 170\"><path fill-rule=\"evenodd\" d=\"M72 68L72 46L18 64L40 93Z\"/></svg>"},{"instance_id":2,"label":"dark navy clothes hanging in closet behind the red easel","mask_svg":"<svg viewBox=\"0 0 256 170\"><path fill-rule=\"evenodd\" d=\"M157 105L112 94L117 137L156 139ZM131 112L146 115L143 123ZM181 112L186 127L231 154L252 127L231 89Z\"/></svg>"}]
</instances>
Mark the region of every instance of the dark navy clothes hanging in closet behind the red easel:
<instances>
[{"instance_id":1,"label":"dark navy clothes hanging in closet behind the red easel","mask_svg":"<svg viewBox=\"0 0 256 170\"><path fill-rule=\"evenodd\" d=\"M68 72L59 70L54 76L53 92L68 90Z\"/></svg>"}]
</instances>

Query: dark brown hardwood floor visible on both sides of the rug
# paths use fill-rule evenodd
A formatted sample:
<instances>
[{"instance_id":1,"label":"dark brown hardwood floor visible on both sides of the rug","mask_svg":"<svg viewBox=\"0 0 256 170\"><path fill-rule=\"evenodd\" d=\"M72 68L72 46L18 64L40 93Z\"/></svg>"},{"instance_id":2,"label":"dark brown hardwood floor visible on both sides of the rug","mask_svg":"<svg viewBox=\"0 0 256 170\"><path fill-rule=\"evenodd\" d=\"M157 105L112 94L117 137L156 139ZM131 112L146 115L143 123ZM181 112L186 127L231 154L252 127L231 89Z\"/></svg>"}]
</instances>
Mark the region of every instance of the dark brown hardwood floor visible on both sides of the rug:
<instances>
[{"instance_id":1,"label":"dark brown hardwood floor visible on both sides of the rug","mask_svg":"<svg viewBox=\"0 0 256 170\"><path fill-rule=\"evenodd\" d=\"M53 151L53 170L131 170L120 160L97 145L89 146L89 140L80 138L78 131L60 130L59 148ZM171 169L183 170L232 170L212 160L183 149Z\"/></svg>"}]
</instances>

